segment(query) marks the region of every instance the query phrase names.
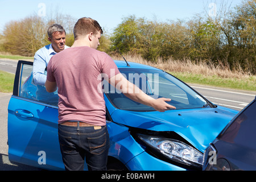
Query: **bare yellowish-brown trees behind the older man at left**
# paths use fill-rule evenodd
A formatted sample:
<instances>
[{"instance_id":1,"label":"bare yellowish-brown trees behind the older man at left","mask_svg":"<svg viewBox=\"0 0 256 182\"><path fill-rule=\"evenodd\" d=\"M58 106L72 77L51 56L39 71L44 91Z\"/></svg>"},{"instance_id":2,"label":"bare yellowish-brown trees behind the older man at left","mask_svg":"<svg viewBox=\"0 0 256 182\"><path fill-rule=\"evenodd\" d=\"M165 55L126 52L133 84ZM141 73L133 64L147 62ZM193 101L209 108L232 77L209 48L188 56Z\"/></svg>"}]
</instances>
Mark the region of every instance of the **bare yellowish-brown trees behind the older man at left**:
<instances>
[{"instance_id":1,"label":"bare yellowish-brown trees behind the older man at left","mask_svg":"<svg viewBox=\"0 0 256 182\"><path fill-rule=\"evenodd\" d=\"M69 15L56 14L56 20L42 18L34 14L27 18L11 21L5 25L3 47L14 55L34 56L38 49L46 46L48 41L47 29L53 23L63 25L66 31L66 45L72 46L73 26L75 18Z\"/></svg>"}]
</instances>

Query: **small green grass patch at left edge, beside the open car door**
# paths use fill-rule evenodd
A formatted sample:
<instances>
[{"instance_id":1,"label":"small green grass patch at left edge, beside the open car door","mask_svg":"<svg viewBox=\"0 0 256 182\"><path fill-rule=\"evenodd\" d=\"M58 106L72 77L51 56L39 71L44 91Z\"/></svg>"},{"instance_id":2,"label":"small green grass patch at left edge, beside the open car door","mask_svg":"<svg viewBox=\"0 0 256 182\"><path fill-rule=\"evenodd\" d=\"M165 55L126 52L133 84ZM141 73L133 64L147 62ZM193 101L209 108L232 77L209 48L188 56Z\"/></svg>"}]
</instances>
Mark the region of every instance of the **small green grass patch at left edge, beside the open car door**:
<instances>
[{"instance_id":1,"label":"small green grass patch at left edge, beside the open car door","mask_svg":"<svg viewBox=\"0 0 256 182\"><path fill-rule=\"evenodd\" d=\"M15 75L0 71L0 92L11 93L13 92Z\"/></svg>"}]
</instances>

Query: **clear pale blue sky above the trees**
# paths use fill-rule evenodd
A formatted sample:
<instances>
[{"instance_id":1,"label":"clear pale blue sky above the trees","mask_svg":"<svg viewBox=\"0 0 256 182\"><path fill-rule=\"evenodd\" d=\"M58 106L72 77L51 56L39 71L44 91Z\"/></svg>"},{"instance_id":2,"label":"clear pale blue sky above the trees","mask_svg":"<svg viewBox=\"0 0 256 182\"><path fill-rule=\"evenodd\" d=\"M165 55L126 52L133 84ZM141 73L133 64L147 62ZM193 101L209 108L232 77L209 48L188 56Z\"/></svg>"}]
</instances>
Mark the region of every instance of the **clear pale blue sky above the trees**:
<instances>
[{"instance_id":1,"label":"clear pale blue sky above the trees","mask_svg":"<svg viewBox=\"0 0 256 182\"><path fill-rule=\"evenodd\" d=\"M135 15L137 18L157 19L166 22L168 19L191 19L195 14L205 11L212 13L215 3L241 5L242 0L0 0L0 32L7 22L20 20L32 14L44 17L44 14L58 10L61 14L74 18L90 17L96 19L106 31L112 32L122 18Z\"/></svg>"}]
</instances>

